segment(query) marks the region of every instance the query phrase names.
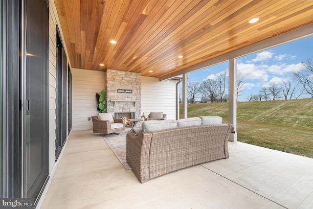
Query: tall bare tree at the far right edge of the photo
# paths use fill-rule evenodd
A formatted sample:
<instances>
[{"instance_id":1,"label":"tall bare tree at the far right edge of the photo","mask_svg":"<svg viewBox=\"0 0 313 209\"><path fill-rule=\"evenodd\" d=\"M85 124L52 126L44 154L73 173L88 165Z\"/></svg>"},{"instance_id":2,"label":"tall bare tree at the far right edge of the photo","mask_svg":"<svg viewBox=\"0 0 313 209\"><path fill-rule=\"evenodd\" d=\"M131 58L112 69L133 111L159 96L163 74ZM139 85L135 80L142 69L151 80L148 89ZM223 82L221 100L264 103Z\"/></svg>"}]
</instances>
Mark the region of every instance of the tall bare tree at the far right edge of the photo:
<instances>
[{"instance_id":1,"label":"tall bare tree at the far right edge of the photo","mask_svg":"<svg viewBox=\"0 0 313 209\"><path fill-rule=\"evenodd\" d=\"M302 84L306 93L313 98L313 57L301 63L305 69L294 73L294 77Z\"/></svg>"}]
</instances>

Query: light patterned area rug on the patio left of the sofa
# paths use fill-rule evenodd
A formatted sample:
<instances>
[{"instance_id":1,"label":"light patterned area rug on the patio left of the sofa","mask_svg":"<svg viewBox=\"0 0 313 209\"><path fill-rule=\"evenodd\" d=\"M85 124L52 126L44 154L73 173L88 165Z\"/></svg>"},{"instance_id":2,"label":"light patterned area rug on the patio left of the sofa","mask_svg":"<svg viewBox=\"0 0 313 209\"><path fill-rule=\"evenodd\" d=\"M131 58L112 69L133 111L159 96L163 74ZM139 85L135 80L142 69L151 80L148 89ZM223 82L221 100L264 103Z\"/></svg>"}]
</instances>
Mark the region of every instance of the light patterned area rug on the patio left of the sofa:
<instances>
[{"instance_id":1,"label":"light patterned area rug on the patio left of the sofa","mask_svg":"<svg viewBox=\"0 0 313 209\"><path fill-rule=\"evenodd\" d=\"M107 142L126 170L132 169L126 161L126 134L129 130L130 129L126 129L125 131L119 132L119 135L103 136L103 139Z\"/></svg>"}]
</instances>

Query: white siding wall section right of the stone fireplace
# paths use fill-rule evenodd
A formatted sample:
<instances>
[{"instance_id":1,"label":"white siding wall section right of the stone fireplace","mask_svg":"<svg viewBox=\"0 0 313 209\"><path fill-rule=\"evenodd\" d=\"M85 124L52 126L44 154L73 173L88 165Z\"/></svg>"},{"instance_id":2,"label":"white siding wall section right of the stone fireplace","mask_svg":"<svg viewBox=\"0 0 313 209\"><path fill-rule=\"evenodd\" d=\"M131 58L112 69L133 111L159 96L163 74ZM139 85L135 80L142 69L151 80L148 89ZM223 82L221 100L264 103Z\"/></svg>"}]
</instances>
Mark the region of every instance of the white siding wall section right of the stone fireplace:
<instances>
[{"instance_id":1,"label":"white siding wall section right of the stone fireplace","mask_svg":"<svg viewBox=\"0 0 313 209\"><path fill-rule=\"evenodd\" d=\"M167 119L176 119L177 82L141 76L141 114L147 117L150 112L160 111Z\"/></svg>"}]
</instances>

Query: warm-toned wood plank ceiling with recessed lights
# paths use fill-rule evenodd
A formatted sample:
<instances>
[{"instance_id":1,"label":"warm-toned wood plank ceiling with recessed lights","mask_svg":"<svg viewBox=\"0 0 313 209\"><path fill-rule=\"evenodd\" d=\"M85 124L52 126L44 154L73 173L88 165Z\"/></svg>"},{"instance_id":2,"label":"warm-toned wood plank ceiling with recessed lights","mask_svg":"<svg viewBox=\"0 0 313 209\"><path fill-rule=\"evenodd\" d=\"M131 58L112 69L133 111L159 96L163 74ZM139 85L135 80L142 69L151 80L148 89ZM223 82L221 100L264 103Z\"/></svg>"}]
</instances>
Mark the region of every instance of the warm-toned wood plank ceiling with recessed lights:
<instances>
[{"instance_id":1,"label":"warm-toned wood plank ceiling with recessed lights","mask_svg":"<svg viewBox=\"0 0 313 209\"><path fill-rule=\"evenodd\" d=\"M54 2L72 68L158 78L313 23L312 0Z\"/></svg>"}]
</instances>

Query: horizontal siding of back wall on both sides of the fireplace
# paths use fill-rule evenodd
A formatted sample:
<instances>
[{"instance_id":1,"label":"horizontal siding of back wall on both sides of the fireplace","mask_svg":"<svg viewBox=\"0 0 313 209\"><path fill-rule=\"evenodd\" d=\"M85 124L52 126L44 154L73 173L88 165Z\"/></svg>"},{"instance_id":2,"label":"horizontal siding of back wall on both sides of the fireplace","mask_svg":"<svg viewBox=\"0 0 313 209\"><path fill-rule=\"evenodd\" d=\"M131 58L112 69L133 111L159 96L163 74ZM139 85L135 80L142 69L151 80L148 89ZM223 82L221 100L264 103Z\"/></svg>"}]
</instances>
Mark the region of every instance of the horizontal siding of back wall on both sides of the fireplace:
<instances>
[{"instance_id":1,"label":"horizontal siding of back wall on both sides of the fireplace","mask_svg":"<svg viewBox=\"0 0 313 209\"><path fill-rule=\"evenodd\" d=\"M95 93L105 89L106 73L95 70L71 69L72 71L72 130L92 129L91 116L96 116ZM176 119L175 80L159 81L141 77L141 114L162 111L168 119Z\"/></svg>"}]
</instances>

